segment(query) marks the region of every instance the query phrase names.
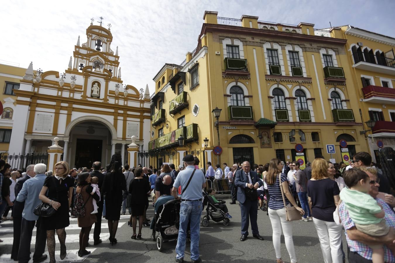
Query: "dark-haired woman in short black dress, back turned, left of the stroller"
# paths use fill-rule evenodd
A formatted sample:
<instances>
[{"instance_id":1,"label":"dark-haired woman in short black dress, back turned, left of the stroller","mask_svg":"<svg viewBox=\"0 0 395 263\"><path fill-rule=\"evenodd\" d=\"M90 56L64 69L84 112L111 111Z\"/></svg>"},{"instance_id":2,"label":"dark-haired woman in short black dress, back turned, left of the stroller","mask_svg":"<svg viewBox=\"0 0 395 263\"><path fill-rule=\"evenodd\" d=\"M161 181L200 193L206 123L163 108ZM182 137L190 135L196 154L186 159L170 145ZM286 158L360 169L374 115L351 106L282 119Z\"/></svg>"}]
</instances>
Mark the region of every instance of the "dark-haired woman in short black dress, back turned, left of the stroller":
<instances>
[{"instance_id":1,"label":"dark-haired woman in short black dress, back turned, left of the stroller","mask_svg":"<svg viewBox=\"0 0 395 263\"><path fill-rule=\"evenodd\" d=\"M143 178L143 169L137 168L134 171L134 179L129 185L130 206L132 207L132 239L136 239L137 216L139 216L139 234L137 235L137 239L141 239L141 228L143 228L143 215L146 205L144 200L150 191L149 182Z\"/></svg>"}]
</instances>

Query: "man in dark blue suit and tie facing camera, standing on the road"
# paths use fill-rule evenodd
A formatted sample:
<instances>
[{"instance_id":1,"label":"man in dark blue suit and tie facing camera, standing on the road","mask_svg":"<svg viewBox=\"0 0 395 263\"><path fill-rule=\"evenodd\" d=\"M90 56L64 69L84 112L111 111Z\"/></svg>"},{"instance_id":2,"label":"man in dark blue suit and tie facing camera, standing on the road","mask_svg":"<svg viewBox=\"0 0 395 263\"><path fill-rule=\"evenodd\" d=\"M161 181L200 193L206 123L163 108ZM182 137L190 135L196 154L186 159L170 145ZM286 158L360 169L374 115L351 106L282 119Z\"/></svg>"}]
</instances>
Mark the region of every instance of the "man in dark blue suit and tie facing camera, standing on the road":
<instances>
[{"instance_id":1,"label":"man in dark blue suit and tie facing camera, standing on the road","mask_svg":"<svg viewBox=\"0 0 395 263\"><path fill-rule=\"evenodd\" d=\"M240 203L241 209L241 238L240 241L245 241L248 236L249 221L251 221L252 236L263 240L259 235L258 224L258 195L256 199L250 200L247 195L248 190L258 189L263 185L259 179L258 174L251 171L251 164L247 161L243 162L243 169L236 172L235 185L237 186L237 200Z\"/></svg>"}]
</instances>

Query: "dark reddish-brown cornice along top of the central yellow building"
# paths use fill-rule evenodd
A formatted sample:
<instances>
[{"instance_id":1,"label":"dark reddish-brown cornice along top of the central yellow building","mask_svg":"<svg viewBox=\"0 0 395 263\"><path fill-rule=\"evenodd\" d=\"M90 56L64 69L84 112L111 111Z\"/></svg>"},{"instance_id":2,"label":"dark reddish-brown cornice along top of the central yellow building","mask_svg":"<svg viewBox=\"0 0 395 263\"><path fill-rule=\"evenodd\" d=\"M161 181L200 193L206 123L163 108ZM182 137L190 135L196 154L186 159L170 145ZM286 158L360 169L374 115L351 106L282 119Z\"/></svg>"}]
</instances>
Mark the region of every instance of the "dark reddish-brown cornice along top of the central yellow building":
<instances>
[{"instance_id":1,"label":"dark reddish-brown cornice along top of the central yellow building","mask_svg":"<svg viewBox=\"0 0 395 263\"><path fill-rule=\"evenodd\" d=\"M207 32L224 32L224 33L232 33L232 34L256 35L259 37L292 39L292 40L327 43L327 44L341 45L341 46L344 46L347 43L346 39L340 39L334 37L321 37L316 35L304 35L304 34L273 31L273 30L262 30L258 28L246 28L241 26L203 23L200 35L206 34Z\"/></svg>"}]
</instances>

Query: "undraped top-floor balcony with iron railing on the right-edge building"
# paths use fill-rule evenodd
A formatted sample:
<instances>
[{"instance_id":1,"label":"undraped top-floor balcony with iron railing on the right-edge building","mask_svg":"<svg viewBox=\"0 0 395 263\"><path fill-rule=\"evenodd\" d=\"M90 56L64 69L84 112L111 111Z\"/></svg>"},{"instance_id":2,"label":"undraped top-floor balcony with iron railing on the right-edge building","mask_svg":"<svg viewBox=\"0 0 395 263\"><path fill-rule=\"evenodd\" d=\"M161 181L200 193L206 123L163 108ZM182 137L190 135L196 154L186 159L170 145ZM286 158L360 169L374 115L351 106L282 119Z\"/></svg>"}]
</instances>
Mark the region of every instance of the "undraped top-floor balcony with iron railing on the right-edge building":
<instances>
[{"instance_id":1,"label":"undraped top-floor balcony with iron railing on the right-edge building","mask_svg":"<svg viewBox=\"0 0 395 263\"><path fill-rule=\"evenodd\" d=\"M356 69L373 71L377 73L395 76L395 59L385 56L377 56L363 52L353 52L354 65Z\"/></svg>"}]
</instances>

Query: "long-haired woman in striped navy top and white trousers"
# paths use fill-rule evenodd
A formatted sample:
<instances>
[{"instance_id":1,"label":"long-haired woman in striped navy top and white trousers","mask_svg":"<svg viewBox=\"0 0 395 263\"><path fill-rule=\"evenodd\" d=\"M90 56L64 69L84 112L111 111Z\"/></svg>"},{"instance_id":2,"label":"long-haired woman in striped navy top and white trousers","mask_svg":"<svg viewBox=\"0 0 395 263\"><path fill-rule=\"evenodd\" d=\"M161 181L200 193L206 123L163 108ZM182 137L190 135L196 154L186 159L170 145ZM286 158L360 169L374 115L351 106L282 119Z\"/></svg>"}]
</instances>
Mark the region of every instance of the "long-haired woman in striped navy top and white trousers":
<instances>
[{"instance_id":1,"label":"long-haired woman in striped navy top and white trousers","mask_svg":"<svg viewBox=\"0 0 395 263\"><path fill-rule=\"evenodd\" d=\"M288 206L290 203L303 215L305 211L298 207L293 199L293 196L288 188L288 178L282 171L281 160L271 159L269 163L269 171L266 174L267 190L269 191L269 218L273 229L273 246L276 252L276 262L282 263L281 260L281 230L284 232L285 246L290 255L292 263L297 262L295 247L292 239L292 221L286 220L286 212L284 201L282 199L280 190L280 181L284 191L285 203Z\"/></svg>"}]
</instances>

